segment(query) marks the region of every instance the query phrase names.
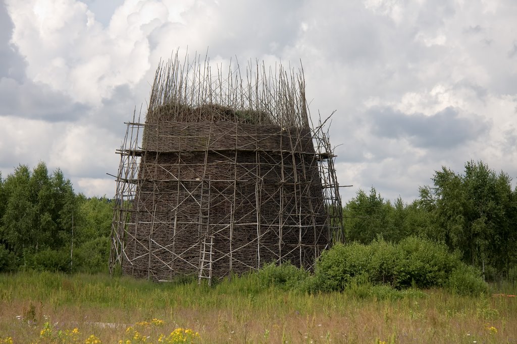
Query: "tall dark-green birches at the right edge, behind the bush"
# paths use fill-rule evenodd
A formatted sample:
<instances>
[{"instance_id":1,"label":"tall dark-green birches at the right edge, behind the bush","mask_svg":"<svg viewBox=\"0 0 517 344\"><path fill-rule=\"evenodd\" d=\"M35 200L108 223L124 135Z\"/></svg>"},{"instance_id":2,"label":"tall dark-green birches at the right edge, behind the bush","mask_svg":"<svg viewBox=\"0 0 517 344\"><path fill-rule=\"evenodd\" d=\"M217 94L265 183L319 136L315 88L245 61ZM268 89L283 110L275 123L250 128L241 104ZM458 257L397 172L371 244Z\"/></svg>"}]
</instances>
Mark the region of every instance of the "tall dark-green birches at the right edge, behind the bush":
<instances>
[{"instance_id":1,"label":"tall dark-green birches at the right edge, behind the bush","mask_svg":"<svg viewBox=\"0 0 517 344\"><path fill-rule=\"evenodd\" d=\"M442 168L434 186L420 189L420 202L435 219L428 233L478 267L506 271L517 259L517 190L508 174L469 161L463 174Z\"/></svg>"}]
</instances>

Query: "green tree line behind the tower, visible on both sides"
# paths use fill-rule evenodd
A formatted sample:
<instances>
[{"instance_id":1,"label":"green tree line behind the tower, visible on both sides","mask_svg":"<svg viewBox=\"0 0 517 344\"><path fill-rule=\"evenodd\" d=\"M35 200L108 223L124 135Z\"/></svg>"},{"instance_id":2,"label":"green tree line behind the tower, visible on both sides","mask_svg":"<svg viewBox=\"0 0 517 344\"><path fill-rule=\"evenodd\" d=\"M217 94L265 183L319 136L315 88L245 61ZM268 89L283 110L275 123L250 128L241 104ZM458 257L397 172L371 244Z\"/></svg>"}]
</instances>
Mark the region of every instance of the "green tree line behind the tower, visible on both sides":
<instances>
[{"instance_id":1,"label":"green tree line behind the tower, visible on both sides","mask_svg":"<svg viewBox=\"0 0 517 344\"><path fill-rule=\"evenodd\" d=\"M462 173L435 171L432 182L411 203L359 190L343 207L346 241L431 239L491 279L515 279L517 188L509 175L469 161ZM44 162L0 174L0 271L106 271L113 202L76 194Z\"/></svg>"}]
</instances>

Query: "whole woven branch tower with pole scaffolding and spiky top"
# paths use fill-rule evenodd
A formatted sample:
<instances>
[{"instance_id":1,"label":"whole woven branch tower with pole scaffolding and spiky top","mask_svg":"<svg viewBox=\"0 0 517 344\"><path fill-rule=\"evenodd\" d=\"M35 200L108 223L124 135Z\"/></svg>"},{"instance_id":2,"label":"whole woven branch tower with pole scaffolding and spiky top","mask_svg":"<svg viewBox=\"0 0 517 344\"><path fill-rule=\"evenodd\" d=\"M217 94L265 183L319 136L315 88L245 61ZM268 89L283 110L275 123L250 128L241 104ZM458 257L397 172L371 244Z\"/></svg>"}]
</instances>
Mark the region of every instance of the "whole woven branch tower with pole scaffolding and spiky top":
<instances>
[{"instance_id":1,"label":"whole woven branch tower with pole scaffolding and spiky top","mask_svg":"<svg viewBox=\"0 0 517 344\"><path fill-rule=\"evenodd\" d=\"M156 72L145 122L126 124L111 271L210 283L271 261L310 269L343 239L334 155L309 123L301 70L250 63L243 77L176 55Z\"/></svg>"}]
</instances>

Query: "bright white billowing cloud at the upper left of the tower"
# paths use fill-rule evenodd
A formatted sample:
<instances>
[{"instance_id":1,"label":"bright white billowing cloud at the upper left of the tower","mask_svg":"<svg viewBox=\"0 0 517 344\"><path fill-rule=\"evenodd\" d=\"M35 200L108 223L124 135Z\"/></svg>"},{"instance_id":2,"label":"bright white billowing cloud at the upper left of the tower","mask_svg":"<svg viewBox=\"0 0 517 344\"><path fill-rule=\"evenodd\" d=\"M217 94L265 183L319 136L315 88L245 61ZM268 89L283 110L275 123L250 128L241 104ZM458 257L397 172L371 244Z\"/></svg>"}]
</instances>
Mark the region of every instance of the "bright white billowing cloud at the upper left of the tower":
<instances>
[{"instance_id":1,"label":"bright white billowing cloud at the upper left of the tower","mask_svg":"<svg viewBox=\"0 0 517 344\"><path fill-rule=\"evenodd\" d=\"M7 5L14 23L12 42L27 61L27 76L75 101L98 106L116 86L135 85L150 68L148 15L122 18L130 24L126 30L115 24L104 30L79 1Z\"/></svg>"}]
</instances>

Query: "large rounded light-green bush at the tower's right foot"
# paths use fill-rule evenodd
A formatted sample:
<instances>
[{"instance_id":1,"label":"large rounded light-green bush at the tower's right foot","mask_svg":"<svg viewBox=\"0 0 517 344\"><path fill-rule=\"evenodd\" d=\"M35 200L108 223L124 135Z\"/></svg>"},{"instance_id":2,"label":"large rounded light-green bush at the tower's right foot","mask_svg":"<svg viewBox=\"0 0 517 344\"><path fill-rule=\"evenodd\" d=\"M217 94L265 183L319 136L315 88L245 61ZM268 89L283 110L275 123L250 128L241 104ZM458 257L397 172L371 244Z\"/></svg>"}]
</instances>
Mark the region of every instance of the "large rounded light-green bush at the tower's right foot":
<instances>
[{"instance_id":1,"label":"large rounded light-green bush at the tower's right foot","mask_svg":"<svg viewBox=\"0 0 517 344\"><path fill-rule=\"evenodd\" d=\"M458 279L462 276L465 281L479 279L477 270L467 267L457 254L449 253L445 244L417 237L398 244L383 240L369 245L337 244L322 254L315 271L316 286L324 291L359 290L368 283L395 288L442 287L453 283L452 275ZM480 287L473 282L454 290L477 293Z\"/></svg>"}]
</instances>

